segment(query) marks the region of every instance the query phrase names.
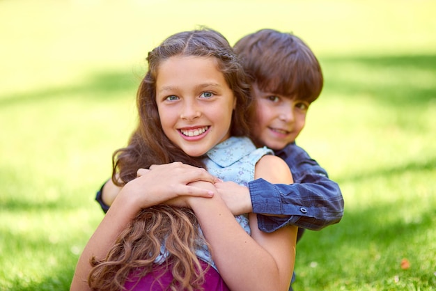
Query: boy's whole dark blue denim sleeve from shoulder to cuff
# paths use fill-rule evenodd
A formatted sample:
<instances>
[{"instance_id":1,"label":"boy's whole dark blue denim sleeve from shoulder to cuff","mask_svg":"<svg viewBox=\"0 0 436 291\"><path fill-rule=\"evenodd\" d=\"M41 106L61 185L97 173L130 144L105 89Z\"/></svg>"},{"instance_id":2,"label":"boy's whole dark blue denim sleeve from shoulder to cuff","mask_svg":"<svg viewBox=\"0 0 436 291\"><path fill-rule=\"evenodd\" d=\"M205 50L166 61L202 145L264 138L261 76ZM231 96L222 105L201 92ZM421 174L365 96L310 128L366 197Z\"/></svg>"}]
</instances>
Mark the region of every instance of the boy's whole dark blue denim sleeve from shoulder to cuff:
<instances>
[{"instance_id":1,"label":"boy's whole dark blue denim sleeve from shoulder to cuff","mask_svg":"<svg viewBox=\"0 0 436 291\"><path fill-rule=\"evenodd\" d=\"M343 197L338 184L329 180L327 172L295 143L277 155L290 167L294 184L271 184L262 179L249 182L260 230L272 232L286 225L320 230L338 223L343 217Z\"/></svg>"}]
</instances>

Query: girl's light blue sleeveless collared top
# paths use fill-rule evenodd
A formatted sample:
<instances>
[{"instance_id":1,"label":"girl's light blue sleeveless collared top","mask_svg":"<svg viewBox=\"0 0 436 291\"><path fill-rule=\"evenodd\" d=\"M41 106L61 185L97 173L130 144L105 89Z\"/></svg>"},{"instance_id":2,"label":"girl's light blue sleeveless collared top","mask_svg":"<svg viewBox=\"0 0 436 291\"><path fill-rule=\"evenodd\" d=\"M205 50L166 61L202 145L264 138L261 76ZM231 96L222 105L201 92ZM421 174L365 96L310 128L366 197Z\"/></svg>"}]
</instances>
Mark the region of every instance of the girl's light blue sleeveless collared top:
<instances>
[{"instance_id":1,"label":"girl's light blue sleeveless collared top","mask_svg":"<svg viewBox=\"0 0 436 291\"><path fill-rule=\"evenodd\" d=\"M261 157L268 154L274 155L274 152L266 147L256 148L247 137L232 136L209 150L203 162L208 172L215 177L247 187L248 182L254 180L256 163ZM235 216L235 219L251 235L247 214ZM162 246L161 255L157 257L155 262L164 262L167 255L166 249ZM196 255L217 269L207 246L202 244L201 248L196 251Z\"/></svg>"}]
</instances>

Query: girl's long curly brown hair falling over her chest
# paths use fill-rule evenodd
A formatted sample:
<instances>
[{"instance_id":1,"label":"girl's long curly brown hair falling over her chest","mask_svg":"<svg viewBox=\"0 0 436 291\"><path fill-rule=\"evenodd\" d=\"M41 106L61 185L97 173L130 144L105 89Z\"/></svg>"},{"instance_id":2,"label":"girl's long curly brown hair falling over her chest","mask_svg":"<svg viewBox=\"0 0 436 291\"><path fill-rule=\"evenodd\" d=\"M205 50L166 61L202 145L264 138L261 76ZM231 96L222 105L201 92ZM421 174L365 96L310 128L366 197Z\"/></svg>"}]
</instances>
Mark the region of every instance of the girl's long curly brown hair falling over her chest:
<instances>
[{"instance_id":1,"label":"girl's long curly brown hair falling over her chest","mask_svg":"<svg viewBox=\"0 0 436 291\"><path fill-rule=\"evenodd\" d=\"M189 157L164 134L156 104L156 78L159 64L171 56L213 56L235 95L236 107L231 122L232 136L248 136L254 102L242 65L228 41L217 31L198 29L170 36L148 53L148 72L137 93L139 125L126 148L114 152L112 180L118 186L133 180L139 168L152 164L183 162L204 167L203 157ZM116 179L116 176L121 181ZM120 234L103 260L91 258L93 269L88 284L94 290L125 290L127 278L140 278L157 267L161 246L169 253L163 265L170 266L171 290L199 290L204 272L195 250L207 244L199 234L194 212L187 208L156 205L142 210Z\"/></svg>"}]
</instances>

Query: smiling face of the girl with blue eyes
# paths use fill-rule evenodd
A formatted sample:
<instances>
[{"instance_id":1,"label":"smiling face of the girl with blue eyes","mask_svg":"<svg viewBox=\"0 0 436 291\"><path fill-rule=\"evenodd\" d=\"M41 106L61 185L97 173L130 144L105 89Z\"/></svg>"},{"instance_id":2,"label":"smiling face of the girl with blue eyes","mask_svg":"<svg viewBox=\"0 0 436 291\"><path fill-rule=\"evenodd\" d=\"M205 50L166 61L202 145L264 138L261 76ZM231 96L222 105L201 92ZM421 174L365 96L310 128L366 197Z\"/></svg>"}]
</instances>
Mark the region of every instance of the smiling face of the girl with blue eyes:
<instances>
[{"instance_id":1,"label":"smiling face of the girl with blue eyes","mask_svg":"<svg viewBox=\"0 0 436 291\"><path fill-rule=\"evenodd\" d=\"M156 102L162 129L198 157L230 136L236 99L214 57L172 56L159 65Z\"/></svg>"}]
</instances>

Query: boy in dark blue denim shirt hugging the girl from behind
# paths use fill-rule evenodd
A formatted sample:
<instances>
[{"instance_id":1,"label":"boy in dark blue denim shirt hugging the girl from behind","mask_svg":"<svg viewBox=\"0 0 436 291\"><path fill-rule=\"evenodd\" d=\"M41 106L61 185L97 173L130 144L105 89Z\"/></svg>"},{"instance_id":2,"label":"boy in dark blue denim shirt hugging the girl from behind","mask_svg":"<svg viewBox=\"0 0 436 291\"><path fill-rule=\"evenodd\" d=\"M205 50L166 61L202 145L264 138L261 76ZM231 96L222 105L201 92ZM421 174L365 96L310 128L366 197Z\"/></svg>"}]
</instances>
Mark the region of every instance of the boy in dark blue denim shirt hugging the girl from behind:
<instances>
[{"instance_id":1,"label":"boy in dark blue denim shirt hugging the girl from behind","mask_svg":"<svg viewBox=\"0 0 436 291\"><path fill-rule=\"evenodd\" d=\"M272 29L244 36L234 48L251 78L251 93L257 104L251 138L256 146L267 146L285 160L294 184L270 184L260 179L249 182L247 189L232 182L217 182L219 193L224 200L232 201L234 214L257 213L260 230L268 233L294 225L299 227L298 240L305 228L320 230L338 223L343 216L338 184L329 180L327 172L295 144L304 128L307 109L322 90L322 72L316 56L296 36ZM174 164L155 166L151 171L159 167L160 171L167 167L168 171L162 171L168 174L166 177L176 176L178 168L177 173L185 175L178 175L180 181L192 181L189 179L196 175L202 175L196 180L211 179L188 168L180 171L182 166ZM118 187L111 181L98 191L96 200L104 212L117 193Z\"/></svg>"}]
</instances>

